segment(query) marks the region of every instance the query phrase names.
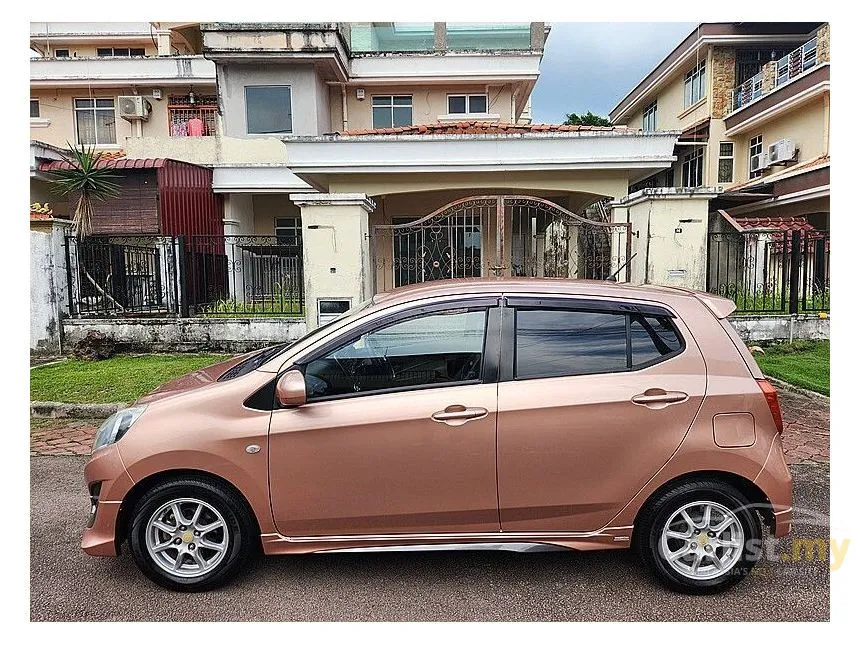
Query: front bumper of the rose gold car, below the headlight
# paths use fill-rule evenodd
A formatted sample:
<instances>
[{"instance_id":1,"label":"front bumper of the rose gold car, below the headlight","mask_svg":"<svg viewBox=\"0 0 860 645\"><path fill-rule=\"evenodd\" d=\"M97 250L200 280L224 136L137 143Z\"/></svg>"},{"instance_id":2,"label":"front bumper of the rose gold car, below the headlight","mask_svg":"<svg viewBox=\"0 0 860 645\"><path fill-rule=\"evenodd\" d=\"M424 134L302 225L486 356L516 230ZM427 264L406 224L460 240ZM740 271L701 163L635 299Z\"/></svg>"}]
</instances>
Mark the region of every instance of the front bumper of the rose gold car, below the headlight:
<instances>
[{"instance_id":1,"label":"front bumper of the rose gold car, below the headlight","mask_svg":"<svg viewBox=\"0 0 860 645\"><path fill-rule=\"evenodd\" d=\"M90 521L81 538L81 548L89 555L119 555L117 518L126 493L134 482L119 456L116 444L97 450L84 467L87 490L101 483L98 496L92 500Z\"/></svg>"}]
</instances>

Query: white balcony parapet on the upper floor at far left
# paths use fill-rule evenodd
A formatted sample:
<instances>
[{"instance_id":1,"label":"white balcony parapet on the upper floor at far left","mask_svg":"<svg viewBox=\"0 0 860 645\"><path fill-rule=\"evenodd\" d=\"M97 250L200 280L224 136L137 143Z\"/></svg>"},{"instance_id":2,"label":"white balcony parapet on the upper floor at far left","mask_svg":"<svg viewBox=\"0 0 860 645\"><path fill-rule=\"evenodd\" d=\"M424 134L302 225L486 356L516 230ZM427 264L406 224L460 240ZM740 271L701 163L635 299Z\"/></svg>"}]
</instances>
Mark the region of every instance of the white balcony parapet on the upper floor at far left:
<instances>
[{"instance_id":1,"label":"white balcony parapet on the upper floor at far left","mask_svg":"<svg viewBox=\"0 0 860 645\"><path fill-rule=\"evenodd\" d=\"M202 56L31 58L31 87L215 84L215 64Z\"/></svg>"}]
</instances>

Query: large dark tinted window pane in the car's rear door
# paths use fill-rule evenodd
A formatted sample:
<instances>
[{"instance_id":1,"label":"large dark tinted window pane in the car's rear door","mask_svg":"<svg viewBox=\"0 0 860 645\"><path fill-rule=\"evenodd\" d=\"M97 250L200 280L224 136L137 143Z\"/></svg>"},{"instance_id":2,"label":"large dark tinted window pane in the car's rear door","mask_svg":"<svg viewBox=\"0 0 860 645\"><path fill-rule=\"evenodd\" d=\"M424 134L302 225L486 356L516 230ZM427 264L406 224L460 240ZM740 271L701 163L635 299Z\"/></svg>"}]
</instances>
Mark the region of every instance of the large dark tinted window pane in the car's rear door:
<instances>
[{"instance_id":1,"label":"large dark tinted window pane in the car's rear door","mask_svg":"<svg viewBox=\"0 0 860 645\"><path fill-rule=\"evenodd\" d=\"M573 376L627 369L623 314L518 310L516 378Z\"/></svg>"}]
</instances>

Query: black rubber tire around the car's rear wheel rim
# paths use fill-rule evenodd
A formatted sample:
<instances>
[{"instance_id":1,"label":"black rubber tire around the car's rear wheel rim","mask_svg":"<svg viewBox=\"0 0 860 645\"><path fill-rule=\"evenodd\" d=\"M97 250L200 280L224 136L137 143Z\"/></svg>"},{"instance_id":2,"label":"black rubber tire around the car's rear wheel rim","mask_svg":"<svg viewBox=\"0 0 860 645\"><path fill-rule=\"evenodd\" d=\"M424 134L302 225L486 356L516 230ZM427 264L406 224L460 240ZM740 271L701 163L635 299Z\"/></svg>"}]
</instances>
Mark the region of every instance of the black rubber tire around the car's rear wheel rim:
<instances>
[{"instance_id":1,"label":"black rubber tire around the car's rear wheel rim","mask_svg":"<svg viewBox=\"0 0 860 645\"><path fill-rule=\"evenodd\" d=\"M734 566L727 567L724 574L707 580L685 576L673 568L661 552L666 523L693 502L721 504L735 514L743 530L744 546L740 558ZM670 589L687 594L714 594L725 591L749 575L761 555L761 536L761 519L750 508L750 502L741 491L718 479L696 479L679 483L648 500L636 520L633 548L657 579Z\"/></svg>"}]
</instances>

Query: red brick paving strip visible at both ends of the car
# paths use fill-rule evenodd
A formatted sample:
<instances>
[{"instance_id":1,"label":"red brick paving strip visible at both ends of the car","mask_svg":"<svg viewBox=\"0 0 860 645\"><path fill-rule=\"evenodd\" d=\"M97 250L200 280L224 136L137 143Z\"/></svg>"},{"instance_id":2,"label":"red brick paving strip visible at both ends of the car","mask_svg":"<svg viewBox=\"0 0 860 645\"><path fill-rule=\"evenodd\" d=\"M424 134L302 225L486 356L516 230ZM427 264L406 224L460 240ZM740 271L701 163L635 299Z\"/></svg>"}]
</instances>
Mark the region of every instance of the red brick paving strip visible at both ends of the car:
<instances>
[{"instance_id":1,"label":"red brick paving strip visible at both ends of the car","mask_svg":"<svg viewBox=\"0 0 860 645\"><path fill-rule=\"evenodd\" d=\"M830 403L780 390L786 461L830 461ZM99 419L34 419L30 455L88 455Z\"/></svg>"}]
</instances>

